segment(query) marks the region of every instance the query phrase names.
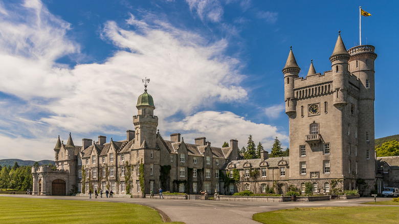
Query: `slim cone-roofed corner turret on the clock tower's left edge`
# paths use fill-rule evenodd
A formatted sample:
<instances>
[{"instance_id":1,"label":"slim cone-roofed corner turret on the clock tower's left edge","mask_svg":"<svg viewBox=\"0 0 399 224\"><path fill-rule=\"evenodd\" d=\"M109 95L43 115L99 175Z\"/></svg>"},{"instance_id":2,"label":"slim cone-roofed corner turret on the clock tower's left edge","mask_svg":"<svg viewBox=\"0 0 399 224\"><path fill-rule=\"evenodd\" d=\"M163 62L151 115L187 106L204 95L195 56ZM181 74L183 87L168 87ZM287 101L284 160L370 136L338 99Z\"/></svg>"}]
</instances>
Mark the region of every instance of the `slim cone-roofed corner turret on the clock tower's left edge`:
<instances>
[{"instance_id":1,"label":"slim cone-roofed corner turret on the clock tower's left edge","mask_svg":"<svg viewBox=\"0 0 399 224\"><path fill-rule=\"evenodd\" d=\"M294 79L299 77L299 68L295 60L292 47L285 63L284 69L284 101L285 101L285 114L289 117L296 114L296 101L294 98Z\"/></svg>"}]
</instances>

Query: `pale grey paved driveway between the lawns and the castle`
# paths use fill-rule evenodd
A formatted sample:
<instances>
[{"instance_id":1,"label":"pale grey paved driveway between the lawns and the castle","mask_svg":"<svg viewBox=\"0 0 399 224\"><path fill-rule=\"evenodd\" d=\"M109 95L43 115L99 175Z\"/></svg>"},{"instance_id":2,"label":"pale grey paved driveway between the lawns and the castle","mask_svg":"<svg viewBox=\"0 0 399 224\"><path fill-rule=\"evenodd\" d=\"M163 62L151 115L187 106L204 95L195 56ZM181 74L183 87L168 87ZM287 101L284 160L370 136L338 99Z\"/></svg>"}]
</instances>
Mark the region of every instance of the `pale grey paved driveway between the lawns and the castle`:
<instances>
[{"instance_id":1,"label":"pale grey paved driveway between the lawns and the castle","mask_svg":"<svg viewBox=\"0 0 399 224\"><path fill-rule=\"evenodd\" d=\"M374 201L372 197L362 197L349 200L298 201L298 202L256 202L256 201L215 201L215 200L172 200L147 198L92 198L75 196L31 196L6 195L0 196L51 198L66 200L98 200L116 203L134 203L150 206L165 212L172 221L186 223L258 223L252 220L252 215L258 212L268 212L295 207L335 207L335 206L368 206L360 205L366 201ZM377 198L387 200L387 198ZM389 200L389 199L388 199Z\"/></svg>"}]
</instances>

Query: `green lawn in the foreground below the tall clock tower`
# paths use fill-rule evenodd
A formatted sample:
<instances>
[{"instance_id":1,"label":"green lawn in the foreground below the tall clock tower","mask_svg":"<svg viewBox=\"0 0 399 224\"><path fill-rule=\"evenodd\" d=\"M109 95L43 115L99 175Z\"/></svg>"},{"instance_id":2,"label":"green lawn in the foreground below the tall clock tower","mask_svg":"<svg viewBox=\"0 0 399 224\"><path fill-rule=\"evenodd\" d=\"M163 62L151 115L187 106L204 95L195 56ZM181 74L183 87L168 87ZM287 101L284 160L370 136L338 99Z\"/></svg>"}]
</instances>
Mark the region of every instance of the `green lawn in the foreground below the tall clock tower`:
<instances>
[{"instance_id":1,"label":"green lawn in the foreground below the tall clock tower","mask_svg":"<svg viewBox=\"0 0 399 224\"><path fill-rule=\"evenodd\" d=\"M399 207L295 208L253 215L262 223L398 223Z\"/></svg>"}]
</instances>

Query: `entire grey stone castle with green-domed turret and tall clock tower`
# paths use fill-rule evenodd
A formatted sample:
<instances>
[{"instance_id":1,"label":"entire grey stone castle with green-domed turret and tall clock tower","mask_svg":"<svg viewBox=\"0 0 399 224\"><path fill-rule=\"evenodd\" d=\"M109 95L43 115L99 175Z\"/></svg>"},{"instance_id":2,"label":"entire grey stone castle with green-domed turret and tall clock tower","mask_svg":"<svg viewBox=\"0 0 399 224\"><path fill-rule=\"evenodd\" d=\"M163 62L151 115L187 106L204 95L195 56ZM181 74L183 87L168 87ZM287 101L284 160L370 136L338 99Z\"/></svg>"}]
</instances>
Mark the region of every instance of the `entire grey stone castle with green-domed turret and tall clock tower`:
<instances>
[{"instance_id":1,"label":"entire grey stone castle with green-domed turret and tall clock tower","mask_svg":"<svg viewBox=\"0 0 399 224\"><path fill-rule=\"evenodd\" d=\"M331 70L316 73L311 62L302 78L290 50L282 70L290 156L282 158L269 158L263 151L260 159L239 160L237 140L230 140L226 148L212 147L204 137L188 144L179 133L164 140L145 84L133 117L135 130L126 131L126 140L111 138L106 143L106 137L99 136L98 142L83 139L82 146L75 146L71 135L66 145L58 137L57 170L32 168L33 195L109 189L139 197L159 188L187 194L261 193L274 188L281 194L290 187L304 192L306 182L312 183L315 193L362 188L360 183L363 194L375 184L381 192L383 176L376 174L380 167L374 152L376 57L370 45L346 50L339 34L329 58ZM235 170L238 183L225 183L222 175L233 177Z\"/></svg>"}]
</instances>

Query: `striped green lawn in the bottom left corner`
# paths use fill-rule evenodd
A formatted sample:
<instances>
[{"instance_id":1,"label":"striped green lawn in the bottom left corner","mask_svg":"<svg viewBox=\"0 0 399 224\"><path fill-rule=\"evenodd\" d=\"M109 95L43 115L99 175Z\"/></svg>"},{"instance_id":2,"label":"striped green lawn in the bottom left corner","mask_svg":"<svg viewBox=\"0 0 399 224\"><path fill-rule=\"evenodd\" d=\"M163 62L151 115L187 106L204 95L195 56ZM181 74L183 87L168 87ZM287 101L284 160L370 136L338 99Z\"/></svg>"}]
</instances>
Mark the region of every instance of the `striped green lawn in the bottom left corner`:
<instances>
[{"instance_id":1,"label":"striped green lawn in the bottom left corner","mask_svg":"<svg viewBox=\"0 0 399 224\"><path fill-rule=\"evenodd\" d=\"M146 206L101 201L0 197L0 223L164 223Z\"/></svg>"}]
</instances>

